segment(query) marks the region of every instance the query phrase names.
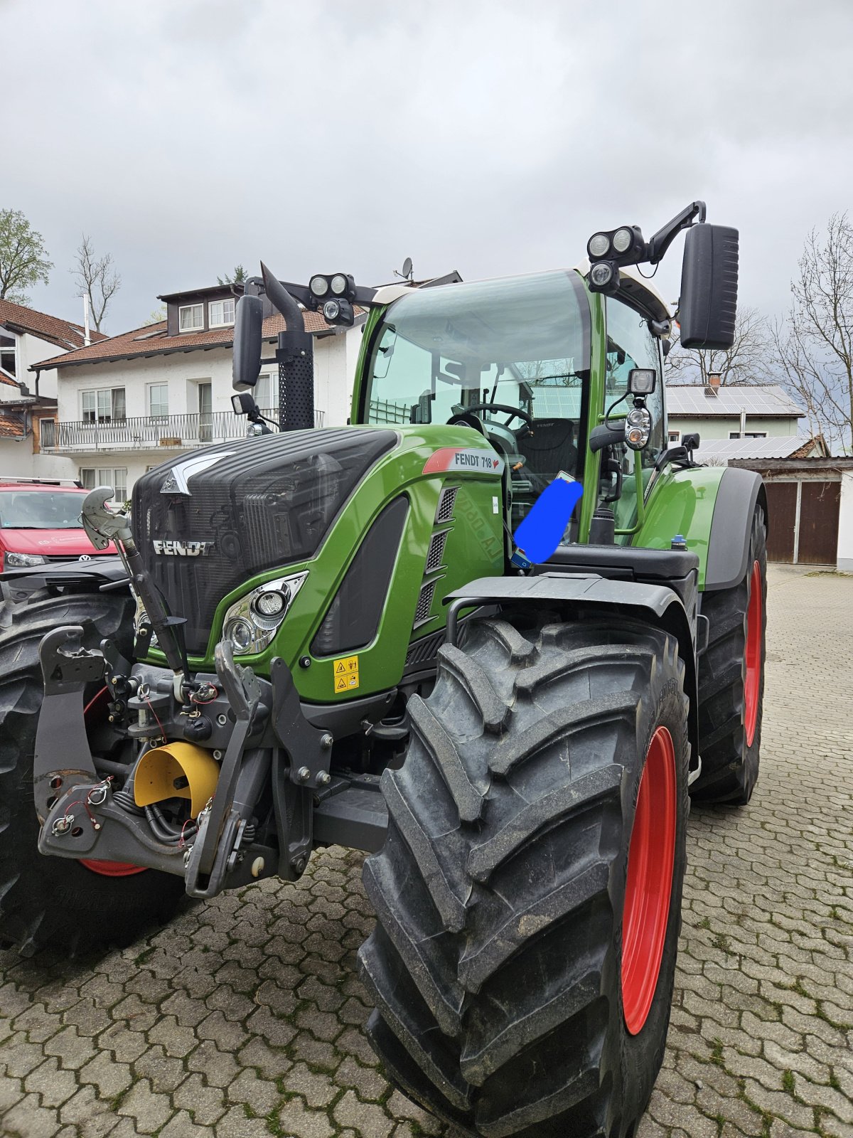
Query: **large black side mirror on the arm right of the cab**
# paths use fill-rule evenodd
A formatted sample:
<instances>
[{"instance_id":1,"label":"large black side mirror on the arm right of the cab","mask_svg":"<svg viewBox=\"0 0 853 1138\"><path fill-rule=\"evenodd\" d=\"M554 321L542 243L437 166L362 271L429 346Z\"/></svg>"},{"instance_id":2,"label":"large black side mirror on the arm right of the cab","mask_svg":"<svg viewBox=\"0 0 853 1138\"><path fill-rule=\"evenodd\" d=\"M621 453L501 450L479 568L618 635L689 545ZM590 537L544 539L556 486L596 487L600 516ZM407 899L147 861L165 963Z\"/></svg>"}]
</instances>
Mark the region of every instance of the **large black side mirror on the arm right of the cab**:
<instances>
[{"instance_id":1,"label":"large black side mirror on the arm right of the cab","mask_svg":"<svg viewBox=\"0 0 853 1138\"><path fill-rule=\"evenodd\" d=\"M694 225L685 237L679 323L686 348L726 351L735 343L738 232Z\"/></svg>"}]
</instances>

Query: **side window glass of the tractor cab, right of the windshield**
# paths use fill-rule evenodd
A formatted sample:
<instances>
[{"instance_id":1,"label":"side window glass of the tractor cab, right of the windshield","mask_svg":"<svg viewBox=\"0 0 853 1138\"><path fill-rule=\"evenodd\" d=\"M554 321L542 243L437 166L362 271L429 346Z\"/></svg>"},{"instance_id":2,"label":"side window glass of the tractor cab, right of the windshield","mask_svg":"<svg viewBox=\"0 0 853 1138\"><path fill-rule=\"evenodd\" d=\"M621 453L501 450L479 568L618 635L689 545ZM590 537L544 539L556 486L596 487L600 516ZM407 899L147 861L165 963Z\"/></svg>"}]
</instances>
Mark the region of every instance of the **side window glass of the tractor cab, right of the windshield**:
<instances>
[{"instance_id":1,"label":"side window glass of the tractor cab, right of the windshield","mask_svg":"<svg viewBox=\"0 0 853 1138\"><path fill-rule=\"evenodd\" d=\"M646 396L646 406L652 412L652 434L640 452L645 480L648 481L652 469L666 445L666 424L663 421L661 344L657 337L649 331L648 319L616 297L607 297L606 314L605 410L626 396L624 403L615 407L615 413L623 414L630 411L631 396L626 395L626 393L628 390L628 374L632 368L652 368L657 377L654 391Z\"/></svg>"}]
</instances>

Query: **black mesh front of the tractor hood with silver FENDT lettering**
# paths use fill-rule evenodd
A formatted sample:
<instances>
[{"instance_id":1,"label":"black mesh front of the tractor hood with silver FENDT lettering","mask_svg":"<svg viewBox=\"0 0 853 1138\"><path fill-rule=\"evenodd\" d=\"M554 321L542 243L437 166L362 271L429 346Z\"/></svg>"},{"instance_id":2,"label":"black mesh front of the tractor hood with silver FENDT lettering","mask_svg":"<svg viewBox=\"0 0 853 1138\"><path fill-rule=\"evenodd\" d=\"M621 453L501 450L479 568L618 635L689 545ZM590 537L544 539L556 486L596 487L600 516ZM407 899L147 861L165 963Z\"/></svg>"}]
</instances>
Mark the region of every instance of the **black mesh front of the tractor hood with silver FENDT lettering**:
<instances>
[{"instance_id":1,"label":"black mesh front of the tractor hood with silver FENDT lettering","mask_svg":"<svg viewBox=\"0 0 853 1138\"><path fill-rule=\"evenodd\" d=\"M183 455L136 481L134 539L172 615L185 618L191 653L207 650L226 593L316 553L365 472L396 442L391 430L351 428L260 435Z\"/></svg>"}]
</instances>

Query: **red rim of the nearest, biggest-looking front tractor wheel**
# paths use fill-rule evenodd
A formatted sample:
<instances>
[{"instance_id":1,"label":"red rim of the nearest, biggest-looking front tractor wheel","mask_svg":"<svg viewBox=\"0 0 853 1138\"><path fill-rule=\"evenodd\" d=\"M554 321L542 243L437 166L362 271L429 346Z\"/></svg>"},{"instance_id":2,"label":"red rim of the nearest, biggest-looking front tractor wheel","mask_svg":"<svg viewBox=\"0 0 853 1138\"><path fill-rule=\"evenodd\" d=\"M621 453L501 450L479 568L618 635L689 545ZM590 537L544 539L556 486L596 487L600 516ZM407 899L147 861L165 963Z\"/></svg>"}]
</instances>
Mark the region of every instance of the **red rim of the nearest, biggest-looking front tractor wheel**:
<instances>
[{"instance_id":1,"label":"red rim of the nearest, biggest-looking front tractor wheel","mask_svg":"<svg viewBox=\"0 0 853 1138\"><path fill-rule=\"evenodd\" d=\"M637 795L622 914L622 1009L636 1036L661 972L676 858L676 749L665 727L652 736Z\"/></svg>"}]
</instances>

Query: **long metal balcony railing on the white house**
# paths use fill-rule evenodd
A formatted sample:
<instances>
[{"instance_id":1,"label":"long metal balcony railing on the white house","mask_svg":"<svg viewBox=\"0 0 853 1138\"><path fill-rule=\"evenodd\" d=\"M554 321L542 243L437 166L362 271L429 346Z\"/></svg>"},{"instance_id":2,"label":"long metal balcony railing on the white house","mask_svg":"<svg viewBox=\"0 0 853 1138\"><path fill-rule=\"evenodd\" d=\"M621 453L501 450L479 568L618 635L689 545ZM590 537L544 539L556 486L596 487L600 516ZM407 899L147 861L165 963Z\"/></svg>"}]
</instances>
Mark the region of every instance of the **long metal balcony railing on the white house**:
<instances>
[{"instance_id":1,"label":"long metal balcony railing on the white house","mask_svg":"<svg viewBox=\"0 0 853 1138\"><path fill-rule=\"evenodd\" d=\"M262 411L273 422L278 411ZM314 412L314 426L322 427L325 412ZM110 422L58 422L56 430L42 435L42 451L151 451L187 450L210 443L230 443L245 438L248 421L231 411L200 414L140 417L114 419ZM51 437L52 435L52 437Z\"/></svg>"}]
</instances>

